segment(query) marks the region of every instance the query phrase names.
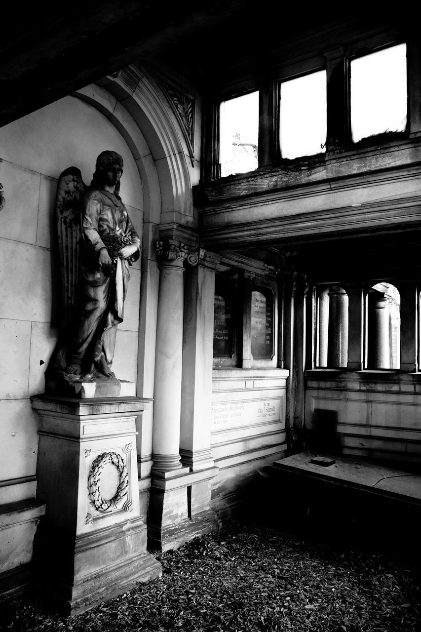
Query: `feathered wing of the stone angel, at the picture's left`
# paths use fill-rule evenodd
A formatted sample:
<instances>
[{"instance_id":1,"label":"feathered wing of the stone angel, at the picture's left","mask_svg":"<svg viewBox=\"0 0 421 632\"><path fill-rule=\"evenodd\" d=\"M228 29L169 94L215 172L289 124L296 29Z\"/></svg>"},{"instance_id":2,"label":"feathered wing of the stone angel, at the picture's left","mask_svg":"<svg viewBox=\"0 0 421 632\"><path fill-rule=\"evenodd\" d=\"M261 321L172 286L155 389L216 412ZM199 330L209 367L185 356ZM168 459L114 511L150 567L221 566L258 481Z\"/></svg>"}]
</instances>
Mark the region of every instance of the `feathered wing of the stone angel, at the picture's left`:
<instances>
[{"instance_id":1,"label":"feathered wing of the stone angel, at the picture's left","mask_svg":"<svg viewBox=\"0 0 421 632\"><path fill-rule=\"evenodd\" d=\"M63 291L63 324L68 324L75 309L81 239L80 207L86 190L82 173L77 167L69 167L60 174L56 218Z\"/></svg>"}]
</instances>

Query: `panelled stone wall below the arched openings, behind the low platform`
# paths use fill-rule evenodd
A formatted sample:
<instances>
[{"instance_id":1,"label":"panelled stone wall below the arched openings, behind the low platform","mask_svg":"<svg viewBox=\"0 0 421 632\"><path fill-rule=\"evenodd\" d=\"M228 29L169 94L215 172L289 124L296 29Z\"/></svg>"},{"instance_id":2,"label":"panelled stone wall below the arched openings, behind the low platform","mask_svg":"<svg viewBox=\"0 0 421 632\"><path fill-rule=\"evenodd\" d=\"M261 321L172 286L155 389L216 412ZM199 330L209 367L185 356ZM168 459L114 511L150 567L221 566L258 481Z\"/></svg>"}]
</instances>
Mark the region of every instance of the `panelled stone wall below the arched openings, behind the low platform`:
<instances>
[{"instance_id":1,"label":"panelled stone wall below the arched openings, behind the low platform","mask_svg":"<svg viewBox=\"0 0 421 632\"><path fill-rule=\"evenodd\" d=\"M343 454L419 463L419 374L311 373L305 396L307 430L317 426L332 445L334 439L326 433L335 433Z\"/></svg>"}]
</instances>

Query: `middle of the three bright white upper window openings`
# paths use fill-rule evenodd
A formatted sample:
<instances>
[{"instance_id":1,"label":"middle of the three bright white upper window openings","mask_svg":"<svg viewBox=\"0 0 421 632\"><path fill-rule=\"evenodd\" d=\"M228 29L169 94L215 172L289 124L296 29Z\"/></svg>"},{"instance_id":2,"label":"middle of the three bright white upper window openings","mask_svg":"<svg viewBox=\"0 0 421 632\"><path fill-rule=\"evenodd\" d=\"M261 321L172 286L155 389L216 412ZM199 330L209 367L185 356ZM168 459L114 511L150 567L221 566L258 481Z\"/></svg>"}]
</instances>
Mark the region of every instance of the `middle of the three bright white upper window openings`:
<instances>
[{"instance_id":1,"label":"middle of the three bright white upper window openings","mask_svg":"<svg viewBox=\"0 0 421 632\"><path fill-rule=\"evenodd\" d=\"M279 143L283 158L326 150L326 70L281 83Z\"/></svg>"}]
</instances>

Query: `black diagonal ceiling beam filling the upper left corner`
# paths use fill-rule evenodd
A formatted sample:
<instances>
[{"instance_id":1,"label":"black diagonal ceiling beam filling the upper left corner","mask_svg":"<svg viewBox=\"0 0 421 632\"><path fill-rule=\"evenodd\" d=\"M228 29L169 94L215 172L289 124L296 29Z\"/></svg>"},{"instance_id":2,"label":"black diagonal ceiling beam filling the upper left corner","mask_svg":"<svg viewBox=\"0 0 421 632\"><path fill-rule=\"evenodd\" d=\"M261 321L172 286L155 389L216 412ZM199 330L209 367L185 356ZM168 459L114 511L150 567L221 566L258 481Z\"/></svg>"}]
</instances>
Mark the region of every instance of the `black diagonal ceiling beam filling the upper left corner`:
<instances>
[{"instance_id":1,"label":"black diagonal ceiling beam filling the upper left corner","mask_svg":"<svg viewBox=\"0 0 421 632\"><path fill-rule=\"evenodd\" d=\"M249 4L11 3L0 42L0 126L193 35L200 38Z\"/></svg>"}]
</instances>

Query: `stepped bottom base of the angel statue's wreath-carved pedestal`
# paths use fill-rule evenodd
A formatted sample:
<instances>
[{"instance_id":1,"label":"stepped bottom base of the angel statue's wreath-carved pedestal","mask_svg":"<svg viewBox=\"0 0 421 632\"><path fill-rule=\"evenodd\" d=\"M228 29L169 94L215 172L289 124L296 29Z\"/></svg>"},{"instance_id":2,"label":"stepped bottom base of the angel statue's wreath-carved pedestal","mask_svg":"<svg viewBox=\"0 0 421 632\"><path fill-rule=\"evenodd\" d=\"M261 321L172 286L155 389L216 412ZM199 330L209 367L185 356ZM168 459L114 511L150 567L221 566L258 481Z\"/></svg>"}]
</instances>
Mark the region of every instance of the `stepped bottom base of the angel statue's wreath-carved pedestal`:
<instances>
[{"instance_id":1,"label":"stepped bottom base of the angel statue's wreath-carved pedestal","mask_svg":"<svg viewBox=\"0 0 421 632\"><path fill-rule=\"evenodd\" d=\"M50 607L78 614L160 577L161 564L146 550L142 520L73 538L49 528L35 545L33 585Z\"/></svg>"}]
</instances>

